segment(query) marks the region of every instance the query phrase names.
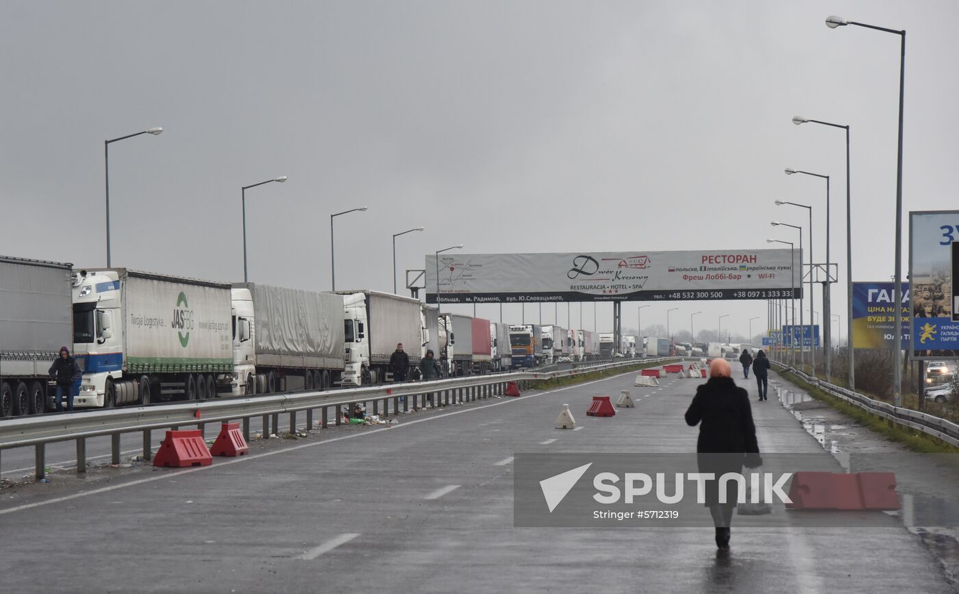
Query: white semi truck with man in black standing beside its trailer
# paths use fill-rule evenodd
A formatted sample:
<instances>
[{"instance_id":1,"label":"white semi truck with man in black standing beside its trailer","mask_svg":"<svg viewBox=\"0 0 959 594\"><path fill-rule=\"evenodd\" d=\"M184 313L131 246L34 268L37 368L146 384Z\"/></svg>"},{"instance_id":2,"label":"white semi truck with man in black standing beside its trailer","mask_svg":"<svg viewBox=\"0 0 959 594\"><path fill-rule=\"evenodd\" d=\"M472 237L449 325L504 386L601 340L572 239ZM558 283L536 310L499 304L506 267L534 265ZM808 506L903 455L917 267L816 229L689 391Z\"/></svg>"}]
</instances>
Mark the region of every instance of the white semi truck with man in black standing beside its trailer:
<instances>
[{"instance_id":1,"label":"white semi truck with man in black standing beside its trailer","mask_svg":"<svg viewBox=\"0 0 959 594\"><path fill-rule=\"evenodd\" d=\"M423 311L419 299L379 291L341 291L346 368L342 386L392 380L389 358L398 343L409 356L407 377L419 366L423 347Z\"/></svg>"}]
</instances>

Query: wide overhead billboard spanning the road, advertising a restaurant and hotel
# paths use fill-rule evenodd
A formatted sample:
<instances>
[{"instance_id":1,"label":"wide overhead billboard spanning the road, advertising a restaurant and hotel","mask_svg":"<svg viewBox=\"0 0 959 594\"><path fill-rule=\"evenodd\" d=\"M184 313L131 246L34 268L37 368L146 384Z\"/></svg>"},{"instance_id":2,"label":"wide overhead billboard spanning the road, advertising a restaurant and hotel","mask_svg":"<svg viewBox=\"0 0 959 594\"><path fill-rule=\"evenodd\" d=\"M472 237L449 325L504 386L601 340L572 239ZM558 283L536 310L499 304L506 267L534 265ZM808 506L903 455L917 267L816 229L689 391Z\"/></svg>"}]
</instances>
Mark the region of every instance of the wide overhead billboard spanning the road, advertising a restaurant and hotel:
<instances>
[{"instance_id":1,"label":"wide overhead billboard spanning the road, advertising a restaurant and hotel","mask_svg":"<svg viewBox=\"0 0 959 594\"><path fill-rule=\"evenodd\" d=\"M438 261L426 257L426 298L435 303L437 291L442 303L799 298L801 262L799 249L442 253Z\"/></svg>"}]
</instances>

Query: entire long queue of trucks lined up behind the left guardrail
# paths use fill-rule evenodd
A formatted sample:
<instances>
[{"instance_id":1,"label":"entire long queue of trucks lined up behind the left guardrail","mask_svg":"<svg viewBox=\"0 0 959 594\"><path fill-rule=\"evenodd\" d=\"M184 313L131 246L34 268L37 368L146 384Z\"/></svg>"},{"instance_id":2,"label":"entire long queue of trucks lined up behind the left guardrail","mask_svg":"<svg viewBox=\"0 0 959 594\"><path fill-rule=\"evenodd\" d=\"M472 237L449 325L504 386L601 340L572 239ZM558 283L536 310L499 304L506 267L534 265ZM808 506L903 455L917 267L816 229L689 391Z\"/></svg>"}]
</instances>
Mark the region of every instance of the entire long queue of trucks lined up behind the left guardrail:
<instances>
[{"instance_id":1,"label":"entire long queue of trucks lined up behind the left guardrail","mask_svg":"<svg viewBox=\"0 0 959 594\"><path fill-rule=\"evenodd\" d=\"M67 346L76 408L322 390L408 377L432 350L444 375L598 359L599 337L440 313L376 291L312 292L0 256L0 417L50 410Z\"/></svg>"}]
</instances>

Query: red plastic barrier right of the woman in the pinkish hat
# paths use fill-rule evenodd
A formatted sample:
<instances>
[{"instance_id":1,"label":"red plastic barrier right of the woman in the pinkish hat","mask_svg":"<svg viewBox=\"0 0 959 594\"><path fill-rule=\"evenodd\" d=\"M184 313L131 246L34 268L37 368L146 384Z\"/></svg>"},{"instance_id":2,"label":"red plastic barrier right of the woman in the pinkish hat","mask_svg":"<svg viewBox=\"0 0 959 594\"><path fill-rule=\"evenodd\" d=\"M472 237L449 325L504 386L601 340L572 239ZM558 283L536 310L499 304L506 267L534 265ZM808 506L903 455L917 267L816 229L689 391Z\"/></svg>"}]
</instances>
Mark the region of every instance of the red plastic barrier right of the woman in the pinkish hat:
<instances>
[{"instance_id":1,"label":"red plastic barrier right of the woman in the pinkish hat","mask_svg":"<svg viewBox=\"0 0 959 594\"><path fill-rule=\"evenodd\" d=\"M794 510L899 510L892 472L797 472L789 487Z\"/></svg>"}]
</instances>

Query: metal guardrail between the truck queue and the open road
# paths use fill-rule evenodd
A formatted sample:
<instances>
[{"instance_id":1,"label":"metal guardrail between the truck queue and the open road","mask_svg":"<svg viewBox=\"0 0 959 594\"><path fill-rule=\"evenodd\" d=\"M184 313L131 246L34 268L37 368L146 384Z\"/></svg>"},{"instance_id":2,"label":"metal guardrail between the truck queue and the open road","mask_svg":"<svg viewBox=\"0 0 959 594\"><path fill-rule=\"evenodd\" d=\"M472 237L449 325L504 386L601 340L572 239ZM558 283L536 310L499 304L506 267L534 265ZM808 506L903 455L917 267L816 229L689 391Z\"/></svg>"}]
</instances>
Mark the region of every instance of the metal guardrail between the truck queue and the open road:
<instances>
[{"instance_id":1,"label":"metal guardrail between the truck queue and the open road","mask_svg":"<svg viewBox=\"0 0 959 594\"><path fill-rule=\"evenodd\" d=\"M292 431L295 431L297 413L305 412L306 426L309 429L313 427L313 414L318 409L321 416L320 425L325 428L331 422L339 425L340 407L352 406L355 403L371 404L372 406L367 406L366 410L367 412L372 410L372 415L396 416L400 414L401 409L405 413L410 408L412 410L426 408L428 398L433 401L434 406L472 402L503 394L507 382L526 383L533 380L549 380L605 369L632 367L645 363L655 364L672 359L674 358L628 359L571 369L550 371L533 369L429 382L368 386L333 392L292 392L125 407L74 415L27 416L0 423L0 453L5 449L34 446L36 448L35 475L39 480L44 477L45 446L47 443L57 441L76 440L77 471L82 473L86 471L86 440L88 438L110 436L111 462L118 464L120 463L120 436L125 433L142 432L143 458L149 461L152 457L152 430L154 429L178 429L184 425L196 425L202 429L207 423L241 420L244 436L246 440L249 440L249 419L262 416L263 436L269 438L270 424L273 432L276 433L279 427L279 416L284 414L290 415L290 427ZM332 421L329 416L330 409L336 412Z\"/></svg>"}]
</instances>

